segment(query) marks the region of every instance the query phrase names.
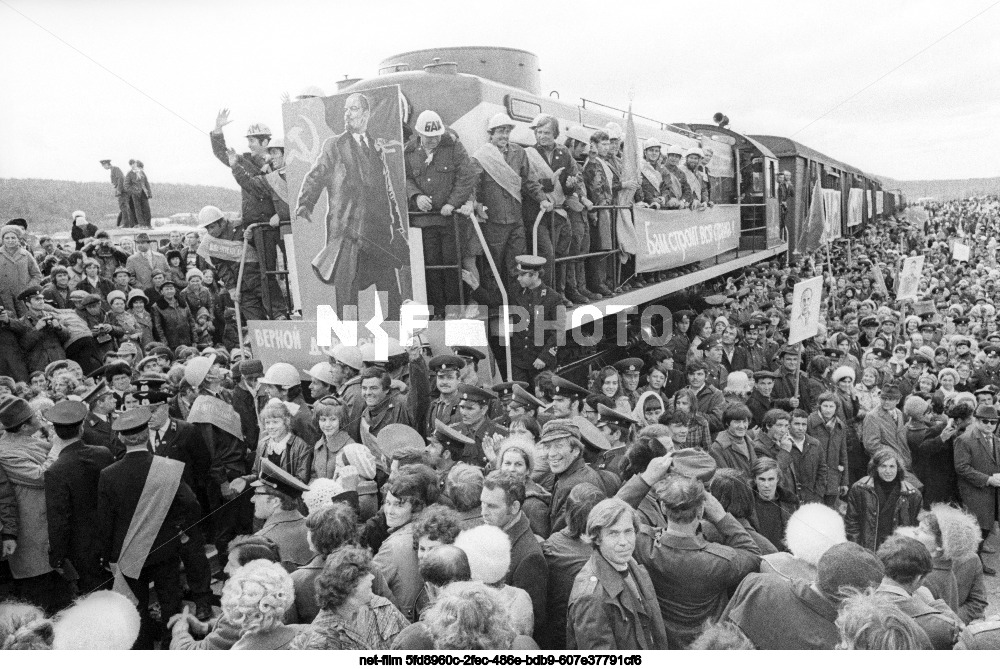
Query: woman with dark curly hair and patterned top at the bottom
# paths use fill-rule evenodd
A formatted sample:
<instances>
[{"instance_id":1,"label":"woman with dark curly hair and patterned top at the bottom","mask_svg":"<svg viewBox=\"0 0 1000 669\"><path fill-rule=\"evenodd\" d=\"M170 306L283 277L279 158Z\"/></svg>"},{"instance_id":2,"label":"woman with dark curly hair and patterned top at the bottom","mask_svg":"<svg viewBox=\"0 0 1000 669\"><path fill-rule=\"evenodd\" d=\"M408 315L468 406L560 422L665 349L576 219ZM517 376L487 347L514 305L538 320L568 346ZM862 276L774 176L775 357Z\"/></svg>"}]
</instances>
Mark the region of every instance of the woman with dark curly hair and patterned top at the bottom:
<instances>
[{"instance_id":1,"label":"woman with dark curly hair and patterned top at the bottom","mask_svg":"<svg viewBox=\"0 0 1000 669\"><path fill-rule=\"evenodd\" d=\"M292 643L295 650L371 650L355 627L359 612L374 597L371 555L343 546L330 554L316 579L319 615Z\"/></svg>"}]
</instances>

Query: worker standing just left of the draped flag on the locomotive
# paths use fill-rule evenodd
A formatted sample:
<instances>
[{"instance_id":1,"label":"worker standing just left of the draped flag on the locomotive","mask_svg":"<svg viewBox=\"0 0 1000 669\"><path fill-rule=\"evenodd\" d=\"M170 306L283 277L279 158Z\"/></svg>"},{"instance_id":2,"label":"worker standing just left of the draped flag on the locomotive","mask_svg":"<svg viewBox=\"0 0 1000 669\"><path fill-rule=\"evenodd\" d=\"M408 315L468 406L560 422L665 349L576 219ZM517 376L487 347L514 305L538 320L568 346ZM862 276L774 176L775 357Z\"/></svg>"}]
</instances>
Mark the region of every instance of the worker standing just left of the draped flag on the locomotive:
<instances>
[{"instance_id":1,"label":"worker standing just left of the draped flag on the locomotive","mask_svg":"<svg viewBox=\"0 0 1000 669\"><path fill-rule=\"evenodd\" d=\"M621 180L608 162L611 156L611 138L603 130L590 136L592 153L583 166L583 182L587 186L587 197L595 206L606 207L615 203L615 196L621 190ZM614 216L610 209L591 211L590 252L610 251ZM587 260L587 289L602 297L614 295L617 289L614 264L607 256Z\"/></svg>"}]
</instances>

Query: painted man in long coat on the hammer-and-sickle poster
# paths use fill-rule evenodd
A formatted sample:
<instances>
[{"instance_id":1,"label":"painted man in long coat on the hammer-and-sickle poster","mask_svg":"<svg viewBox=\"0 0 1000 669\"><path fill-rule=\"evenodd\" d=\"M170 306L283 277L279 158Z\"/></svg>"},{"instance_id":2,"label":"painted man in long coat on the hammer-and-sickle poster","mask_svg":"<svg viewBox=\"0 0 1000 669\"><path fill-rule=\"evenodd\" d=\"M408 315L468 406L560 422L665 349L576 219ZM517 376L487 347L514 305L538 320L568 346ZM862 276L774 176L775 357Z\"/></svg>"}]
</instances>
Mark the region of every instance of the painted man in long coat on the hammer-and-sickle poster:
<instances>
[{"instance_id":1,"label":"painted man in long coat on the hammer-and-sickle poster","mask_svg":"<svg viewBox=\"0 0 1000 669\"><path fill-rule=\"evenodd\" d=\"M344 100L344 131L326 140L302 180L295 217L311 222L325 192L326 243L312 261L316 275L334 288L337 308L356 305L358 294L374 286L386 292L388 312L398 313L409 293L406 195L397 193L389 178L382 144L391 137L376 138L368 129L368 96L376 94L352 93Z\"/></svg>"}]
</instances>

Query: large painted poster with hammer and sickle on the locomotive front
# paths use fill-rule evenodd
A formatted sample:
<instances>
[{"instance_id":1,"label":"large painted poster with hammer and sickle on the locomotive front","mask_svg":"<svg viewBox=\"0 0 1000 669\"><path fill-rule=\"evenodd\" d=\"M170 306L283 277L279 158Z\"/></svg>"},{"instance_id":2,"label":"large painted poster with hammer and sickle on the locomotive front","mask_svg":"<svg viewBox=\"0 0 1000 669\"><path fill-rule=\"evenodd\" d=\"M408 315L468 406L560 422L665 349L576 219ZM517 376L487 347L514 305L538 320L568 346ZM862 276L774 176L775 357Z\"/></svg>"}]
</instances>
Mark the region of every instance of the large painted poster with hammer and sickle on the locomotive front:
<instances>
[{"instance_id":1,"label":"large painted poster with hammer and sickle on the locomotive front","mask_svg":"<svg viewBox=\"0 0 1000 669\"><path fill-rule=\"evenodd\" d=\"M302 310L352 317L359 294L383 313L411 297L398 86L286 103L285 155Z\"/></svg>"}]
</instances>

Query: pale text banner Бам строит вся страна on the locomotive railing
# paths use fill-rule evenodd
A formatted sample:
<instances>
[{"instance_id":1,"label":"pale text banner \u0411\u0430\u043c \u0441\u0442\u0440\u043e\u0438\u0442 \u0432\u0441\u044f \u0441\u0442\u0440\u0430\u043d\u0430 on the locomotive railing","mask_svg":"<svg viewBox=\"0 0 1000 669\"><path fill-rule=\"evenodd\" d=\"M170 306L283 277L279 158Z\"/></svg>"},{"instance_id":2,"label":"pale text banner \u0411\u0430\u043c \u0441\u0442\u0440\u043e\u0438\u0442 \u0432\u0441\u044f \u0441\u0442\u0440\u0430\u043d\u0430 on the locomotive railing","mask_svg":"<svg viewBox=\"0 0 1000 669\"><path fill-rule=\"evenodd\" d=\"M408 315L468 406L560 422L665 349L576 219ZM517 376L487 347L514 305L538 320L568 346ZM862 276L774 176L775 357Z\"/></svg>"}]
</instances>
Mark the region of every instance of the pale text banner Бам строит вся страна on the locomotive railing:
<instances>
[{"instance_id":1,"label":"pale text banner \u0411\u0430\u043c \u0441\u0442\u0440\u043e\u0438\u0442 \u0432\u0441\u044f \u0441\u0442\u0440\u0430\u043d\u0430 on the locomotive railing","mask_svg":"<svg viewBox=\"0 0 1000 669\"><path fill-rule=\"evenodd\" d=\"M717 205L704 211L637 208L636 272L657 272L698 262L740 244L740 208Z\"/></svg>"}]
</instances>

